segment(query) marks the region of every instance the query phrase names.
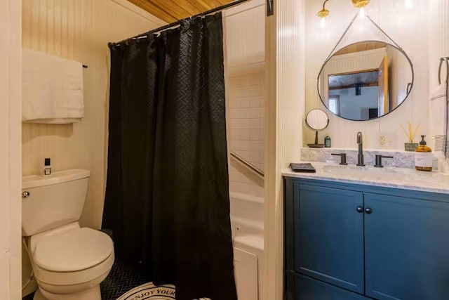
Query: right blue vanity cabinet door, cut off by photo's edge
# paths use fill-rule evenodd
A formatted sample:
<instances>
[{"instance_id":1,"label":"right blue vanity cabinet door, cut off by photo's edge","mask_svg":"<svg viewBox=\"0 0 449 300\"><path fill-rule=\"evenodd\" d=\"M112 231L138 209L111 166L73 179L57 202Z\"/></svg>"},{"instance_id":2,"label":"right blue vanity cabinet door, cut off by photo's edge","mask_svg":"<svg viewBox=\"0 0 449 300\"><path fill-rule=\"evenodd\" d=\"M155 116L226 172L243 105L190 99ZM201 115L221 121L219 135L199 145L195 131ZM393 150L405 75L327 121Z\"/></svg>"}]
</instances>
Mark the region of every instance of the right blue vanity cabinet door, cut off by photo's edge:
<instances>
[{"instance_id":1,"label":"right blue vanity cabinet door, cut off by photo's edge","mask_svg":"<svg viewBox=\"0 0 449 300\"><path fill-rule=\"evenodd\" d=\"M449 299L449 203L366 193L365 208L366 295Z\"/></svg>"}]
</instances>

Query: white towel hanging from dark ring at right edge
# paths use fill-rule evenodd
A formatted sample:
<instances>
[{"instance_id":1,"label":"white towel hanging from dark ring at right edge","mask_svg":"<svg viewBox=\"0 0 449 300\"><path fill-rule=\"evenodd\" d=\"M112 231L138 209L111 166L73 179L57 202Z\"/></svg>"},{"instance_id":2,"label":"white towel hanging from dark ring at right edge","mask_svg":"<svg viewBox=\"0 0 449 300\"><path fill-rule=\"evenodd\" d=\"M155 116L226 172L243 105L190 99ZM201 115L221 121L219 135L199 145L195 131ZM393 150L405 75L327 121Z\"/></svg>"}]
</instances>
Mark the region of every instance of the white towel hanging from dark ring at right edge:
<instances>
[{"instance_id":1,"label":"white towel hanging from dark ring at right edge","mask_svg":"<svg viewBox=\"0 0 449 300\"><path fill-rule=\"evenodd\" d=\"M448 86L443 83L430 98L431 127L435 138L435 153L437 157L449 158L449 104Z\"/></svg>"}]
</instances>

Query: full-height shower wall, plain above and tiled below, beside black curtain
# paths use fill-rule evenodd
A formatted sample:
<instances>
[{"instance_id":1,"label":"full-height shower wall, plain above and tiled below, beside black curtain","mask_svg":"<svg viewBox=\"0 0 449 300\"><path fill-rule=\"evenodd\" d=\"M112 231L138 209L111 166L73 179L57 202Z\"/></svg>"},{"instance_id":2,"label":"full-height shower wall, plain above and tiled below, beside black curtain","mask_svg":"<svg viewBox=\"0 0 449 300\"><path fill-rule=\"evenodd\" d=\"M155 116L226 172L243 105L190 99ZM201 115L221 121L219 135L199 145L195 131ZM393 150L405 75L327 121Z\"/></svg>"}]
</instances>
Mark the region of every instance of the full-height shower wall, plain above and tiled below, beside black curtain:
<instances>
[{"instance_id":1,"label":"full-height shower wall, plain above and tiled below, beside black curtain","mask_svg":"<svg viewBox=\"0 0 449 300\"><path fill-rule=\"evenodd\" d=\"M264 1L225 12L229 150L264 169ZM229 190L264 196L264 180L229 158Z\"/></svg>"}]
</instances>

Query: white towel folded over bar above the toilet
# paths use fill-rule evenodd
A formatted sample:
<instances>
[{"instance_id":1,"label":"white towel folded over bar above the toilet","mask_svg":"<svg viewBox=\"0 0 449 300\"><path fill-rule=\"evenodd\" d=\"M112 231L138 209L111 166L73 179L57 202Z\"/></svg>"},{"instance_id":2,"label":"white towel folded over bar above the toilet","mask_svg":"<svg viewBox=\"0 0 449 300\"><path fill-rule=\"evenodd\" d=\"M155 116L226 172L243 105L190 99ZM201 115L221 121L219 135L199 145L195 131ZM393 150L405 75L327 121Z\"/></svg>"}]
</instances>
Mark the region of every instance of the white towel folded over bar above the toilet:
<instances>
[{"instance_id":1,"label":"white towel folded over bar above the toilet","mask_svg":"<svg viewBox=\"0 0 449 300\"><path fill-rule=\"evenodd\" d=\"M83 117L83 65L23 48L22 122L65 124Z\"/></svg>"}]
</instances>

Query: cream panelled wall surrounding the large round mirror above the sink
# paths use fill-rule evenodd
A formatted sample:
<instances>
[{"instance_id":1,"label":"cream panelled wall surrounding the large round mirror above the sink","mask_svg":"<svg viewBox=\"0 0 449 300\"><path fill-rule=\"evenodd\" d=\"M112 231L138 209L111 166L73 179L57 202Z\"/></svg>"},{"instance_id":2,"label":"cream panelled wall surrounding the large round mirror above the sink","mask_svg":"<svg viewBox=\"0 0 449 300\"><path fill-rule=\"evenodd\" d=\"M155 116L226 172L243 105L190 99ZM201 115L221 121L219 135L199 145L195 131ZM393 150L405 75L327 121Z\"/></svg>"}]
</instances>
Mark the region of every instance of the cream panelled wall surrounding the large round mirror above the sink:
<instances>
[{"instance_id":1,"label":"cream panelled wall surrounding the large round mirror above the sink","mask_svg":"<svg viewBox=\"0 0 449 300\"><path fill-rule=\"evenodd\" d=\"M332 138L332 145L336 148L356 148L356 133L363 133L363 143L366 148L373 149L397 149L403 150L403 143L407 141L405 134L401 131L401 125L407 126L412 122L415 126L421 124L419 134L429 134L427 112L429 110L429 63L427 47L429 3L434 1L410 0L371 1L367 6L370 17L396 43L403 48L413 62L415 70L415 84L410 96L403 105L389 115L371 121L348 121L335 117L330 112L330 124L328 131ZM412 4L411 7L406 4ZM319 99L316 91L316 78L324 60L332 51L338 39L340 39L346 27L354 18L357 9L347 0L334 0L326 4L330 11L327 18L326 28L320 27L320 20L316 12L321 9L322 3L315 0L306 0L306 112L313 108L326 108ZM338 48L350 44L355 40L377 39L389 41L371 25L368 20L358 21L348 32L347 38L343 39ZM433 72L433 71L432 71ZM327 111L327 110L326 110ZM304 126L304 125L303 125ZM304 128L303 145L313 141L314 132ZM326 131L319 134L323 141ZM379 136L387 137L387 143L380 145Z\"/></svg>"}]
</instances>

